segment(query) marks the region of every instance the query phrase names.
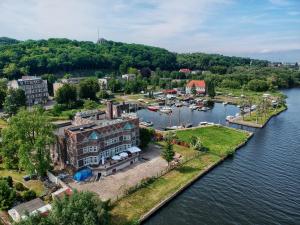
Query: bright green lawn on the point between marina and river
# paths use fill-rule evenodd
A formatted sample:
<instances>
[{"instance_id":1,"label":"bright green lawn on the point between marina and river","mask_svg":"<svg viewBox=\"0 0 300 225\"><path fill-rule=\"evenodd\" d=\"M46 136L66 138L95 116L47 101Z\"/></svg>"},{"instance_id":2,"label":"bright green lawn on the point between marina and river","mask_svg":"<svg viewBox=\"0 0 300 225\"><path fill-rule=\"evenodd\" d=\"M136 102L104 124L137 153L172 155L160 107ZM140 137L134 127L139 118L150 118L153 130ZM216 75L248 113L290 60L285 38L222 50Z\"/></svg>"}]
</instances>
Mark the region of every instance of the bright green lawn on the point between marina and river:
<instances>
[{"instance_id":1,"label":"bright green lawn on the point between marina and river","mask_svg":"<svg viewBox=\"0 0 300 225\"><path fill-rule=\"evenodd\" d=\"M213 154L225 156L248 138L248 134L226 127L209 126L177 131L179 139L189 143L191 136L200 137L203 145Z\"/></svg>"}]
</instances>

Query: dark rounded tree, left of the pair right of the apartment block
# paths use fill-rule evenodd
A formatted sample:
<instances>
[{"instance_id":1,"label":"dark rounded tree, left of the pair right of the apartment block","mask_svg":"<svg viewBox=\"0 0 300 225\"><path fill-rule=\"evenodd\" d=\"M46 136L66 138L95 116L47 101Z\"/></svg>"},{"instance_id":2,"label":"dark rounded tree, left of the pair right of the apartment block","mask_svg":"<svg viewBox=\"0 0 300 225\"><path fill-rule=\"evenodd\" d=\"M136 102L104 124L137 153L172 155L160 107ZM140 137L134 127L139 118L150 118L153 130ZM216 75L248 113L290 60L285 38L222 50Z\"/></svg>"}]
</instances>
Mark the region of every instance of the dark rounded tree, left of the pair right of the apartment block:
<instances>
[{"instance_id":1,"label":"dark rounded tree, left of the pair right of the apartment block","mask_svg":"<svg viewBox=\"0 0 300 225\"><path fill-rule=\"evenodd\" d=\"M59 88L55 95L58 104L66 104L68 106L77 100L77 90L74 85L64 84Z\"/></svg>"}]
</instances>

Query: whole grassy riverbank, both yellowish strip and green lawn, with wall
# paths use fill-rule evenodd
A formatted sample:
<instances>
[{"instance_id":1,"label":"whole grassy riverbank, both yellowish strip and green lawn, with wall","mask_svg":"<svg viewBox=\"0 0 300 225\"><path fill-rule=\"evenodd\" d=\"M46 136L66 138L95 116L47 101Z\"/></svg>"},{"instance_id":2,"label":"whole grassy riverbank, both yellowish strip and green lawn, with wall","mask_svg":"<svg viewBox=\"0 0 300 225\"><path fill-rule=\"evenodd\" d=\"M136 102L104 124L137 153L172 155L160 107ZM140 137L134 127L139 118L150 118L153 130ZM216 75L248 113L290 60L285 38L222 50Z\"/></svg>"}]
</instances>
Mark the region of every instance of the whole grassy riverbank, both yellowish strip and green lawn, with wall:
<instances>
[{"instance_id":1,"label":"whole grassy riverbank, both yellowish strip and green lawn, with wall","mask_svg":"<svg viewBox=\"0 0 300 225\"><path fill-rule=\"evenodd\" d=\"M191 160L161 177L154 178L147 185L115 202L112 210L113 224L141 223L146 220L193 182L223 162L232 151L244 145L252 136L251 133L245 131L219 126L178 132L178 137L183 141L190 136L191 132L199 136L203 145L210 151L197 154ZM185 148L184 151L195 150Z\"/></svg>"}]
</instances>

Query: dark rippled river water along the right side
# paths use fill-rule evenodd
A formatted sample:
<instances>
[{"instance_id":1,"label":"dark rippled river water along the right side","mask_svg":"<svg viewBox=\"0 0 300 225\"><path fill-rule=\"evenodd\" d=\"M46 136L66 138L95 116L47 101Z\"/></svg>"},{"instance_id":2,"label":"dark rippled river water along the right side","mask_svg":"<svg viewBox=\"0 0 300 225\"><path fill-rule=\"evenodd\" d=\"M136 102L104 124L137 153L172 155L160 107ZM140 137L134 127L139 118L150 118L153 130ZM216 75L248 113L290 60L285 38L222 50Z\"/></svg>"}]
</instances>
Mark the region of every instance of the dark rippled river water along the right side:
<instances>
[{"instance_id":1,"label":"dark rippled river water along the right side","mask_svg":"<svg viewBox=\"0 0 300 225\"><path fill-rule=\"evenodd\" d=\"M284 92L287 111L144 224L299 225L300 89Z\"/></svg>"}]
</instances>

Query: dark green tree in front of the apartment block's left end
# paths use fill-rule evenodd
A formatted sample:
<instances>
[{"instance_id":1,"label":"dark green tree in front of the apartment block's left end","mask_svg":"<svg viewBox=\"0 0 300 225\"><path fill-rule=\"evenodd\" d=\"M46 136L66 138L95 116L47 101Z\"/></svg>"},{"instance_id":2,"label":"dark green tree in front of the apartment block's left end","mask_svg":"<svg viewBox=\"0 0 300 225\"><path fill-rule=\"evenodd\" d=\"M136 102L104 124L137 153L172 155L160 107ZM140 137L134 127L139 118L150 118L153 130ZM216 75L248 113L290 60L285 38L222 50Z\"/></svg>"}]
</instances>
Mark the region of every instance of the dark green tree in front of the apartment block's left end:
<instances>
[{"instance_id":1,"label":"dark green tree in front of the apartment block's left end","mask_svg":"<svg viewBox=\"0 0 300 225\"><path fill-rule=\"evenodd\" d=\"M26 95L24 90L20 88L9 89L4 101L4 111L9 115L13 115L24 106L26 106Z\"/></svg>"}]
</instances>

